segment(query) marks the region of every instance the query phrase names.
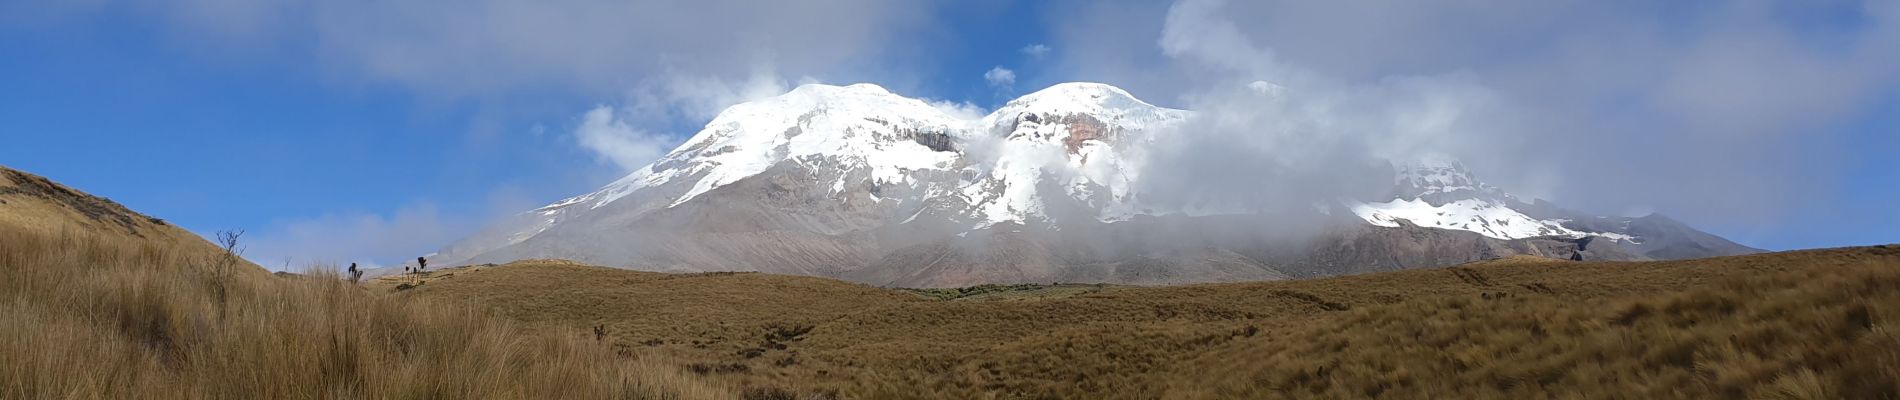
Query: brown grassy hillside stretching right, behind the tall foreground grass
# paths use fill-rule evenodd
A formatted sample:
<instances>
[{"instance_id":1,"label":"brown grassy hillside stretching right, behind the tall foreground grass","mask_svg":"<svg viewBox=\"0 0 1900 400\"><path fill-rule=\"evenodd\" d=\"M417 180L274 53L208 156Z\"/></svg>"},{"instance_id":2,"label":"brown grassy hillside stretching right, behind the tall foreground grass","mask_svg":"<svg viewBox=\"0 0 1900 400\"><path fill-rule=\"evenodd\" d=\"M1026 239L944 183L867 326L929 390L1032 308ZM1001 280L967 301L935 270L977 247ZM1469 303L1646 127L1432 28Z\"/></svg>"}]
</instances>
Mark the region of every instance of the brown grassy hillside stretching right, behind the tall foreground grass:
<instances>
[{"instance_id":1,"label":"brown grassy hillside stretching right, behind the tall foreground grass","mask_svg":"<svg viewBox=\"0 0 1900 400\"><path fill-rule=\"evenodd\" d=\"M1689 262L1510 258L1360 277L882 290L564 262L395 290L754 394L842 398L1896 398L1900 246Z\"/></svg>"}]
</instances>

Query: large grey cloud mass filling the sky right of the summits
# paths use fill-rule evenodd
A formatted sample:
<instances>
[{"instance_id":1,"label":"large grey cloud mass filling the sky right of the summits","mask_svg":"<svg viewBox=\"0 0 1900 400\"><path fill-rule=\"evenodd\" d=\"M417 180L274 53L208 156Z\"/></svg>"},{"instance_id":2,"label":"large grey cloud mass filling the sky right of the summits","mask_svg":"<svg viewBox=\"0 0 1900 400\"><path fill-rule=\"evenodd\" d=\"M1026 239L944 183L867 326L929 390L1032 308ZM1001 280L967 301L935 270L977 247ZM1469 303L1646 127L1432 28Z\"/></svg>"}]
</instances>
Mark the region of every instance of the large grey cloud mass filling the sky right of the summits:
<instances>
[{"instance_id":1,"label":"large grey cloud mass filling the sky right of the summits","mask_svg":"<svg viewBox=\"0 0 1900 400\"><path fill-rule=\"evenodd\" d=\"M1056 76L1206 116L1153 176L1212 191L1233 182L1199 171L1330 195L1368 157L1450 154L1588 210L1773 224L1828 201L1813 176L1849 154L1830 123L1900 83L1890 2L1092 2L1051 25Z\"/></svg>"}]
</instances>

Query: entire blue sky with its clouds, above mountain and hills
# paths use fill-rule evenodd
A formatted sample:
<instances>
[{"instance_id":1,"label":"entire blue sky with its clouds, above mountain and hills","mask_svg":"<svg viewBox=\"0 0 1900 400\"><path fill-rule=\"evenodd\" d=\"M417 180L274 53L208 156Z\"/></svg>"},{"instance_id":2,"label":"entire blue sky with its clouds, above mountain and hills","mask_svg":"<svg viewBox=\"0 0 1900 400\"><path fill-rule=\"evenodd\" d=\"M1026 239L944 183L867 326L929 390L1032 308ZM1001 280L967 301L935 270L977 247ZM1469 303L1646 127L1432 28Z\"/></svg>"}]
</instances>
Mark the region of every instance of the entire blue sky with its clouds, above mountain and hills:
<instances>
[{"instance_id":1,"label":"entire blue sky with its clouds, above mountain and hills","mask_svg":"<svg viewBox=\"0 0 1900 400\"><path fill-rule=\"evenodd\" d=\"M249 229L266 265L390 264L800 82L992 108L1091 80L1218 108L1210 87L1267 80L1459 106L1471 133L1434 146L1564 205L1776 250L1900 241L1890 6L1425 6L0 2L0 163ZM648 148L580 140L600 106Z\"/></svg>"}]
</instances>

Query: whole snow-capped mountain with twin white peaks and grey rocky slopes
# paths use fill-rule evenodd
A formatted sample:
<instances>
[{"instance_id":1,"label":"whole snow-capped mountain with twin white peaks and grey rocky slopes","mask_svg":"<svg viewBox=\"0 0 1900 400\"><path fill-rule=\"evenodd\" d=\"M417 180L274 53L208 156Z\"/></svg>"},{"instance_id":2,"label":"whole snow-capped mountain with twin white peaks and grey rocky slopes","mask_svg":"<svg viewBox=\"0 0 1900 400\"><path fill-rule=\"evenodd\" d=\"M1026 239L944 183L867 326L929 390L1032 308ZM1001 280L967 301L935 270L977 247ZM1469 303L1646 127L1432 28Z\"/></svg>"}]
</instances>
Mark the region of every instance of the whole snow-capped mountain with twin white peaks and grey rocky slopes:
<instances>
[{"instance_id":1,"label":"whole snow-capped mountain with twin white peaks and grey rocky slopes","mask_svg":"<svg viewBox=\"0 0 1900 400\"><path fill-rule=\"evenodd\" d=\"M1632 218L1617 224L1526 203L1444 157L1395 163L1391 197L1341 201L1357 218L1302 235L1243 224L1296 216L1189 216L1144 205L1144 148L1191 135L1176 129L1191 118L1104 83L1053 85L977 119L868 83L800 85L732 106L652 165L504 220L437 260L574 258L954 286L1284 279L1522 252L1649 258L1617 245L1664 248L1638 235L1644 224ZM1427 229L1467 248L1313 250L1366 245L1395 229ZM1752 250L1714 241L1670 252ZM1586 243L1609 246L1586 250ZM1383 256L1328 265L1368 254Z\"/></svg>"}]
</instances>

